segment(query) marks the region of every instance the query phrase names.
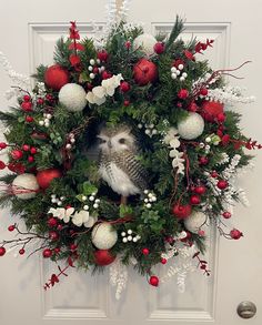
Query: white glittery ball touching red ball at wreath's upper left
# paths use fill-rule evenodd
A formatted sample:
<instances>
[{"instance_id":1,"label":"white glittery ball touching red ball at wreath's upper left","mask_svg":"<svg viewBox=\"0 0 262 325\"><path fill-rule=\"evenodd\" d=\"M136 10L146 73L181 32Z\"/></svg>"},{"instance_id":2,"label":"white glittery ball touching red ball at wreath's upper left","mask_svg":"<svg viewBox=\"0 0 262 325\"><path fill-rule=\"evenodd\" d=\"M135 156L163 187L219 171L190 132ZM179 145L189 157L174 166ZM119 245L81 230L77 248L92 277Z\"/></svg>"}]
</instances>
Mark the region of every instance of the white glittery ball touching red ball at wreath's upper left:
<instances>
[{"instance_id":1,"label":"white glittery ball touching red ball at wreath's upper left","mask_svg":"<svg viewBox=\"0 0 262 325\"><path fill-rule=\"evenodd\" d=\"M88 101L84 89L77 83L64 84L58 94L59 102L63 104L70 112L82 111Z\"/></svg>"}]
</instances>

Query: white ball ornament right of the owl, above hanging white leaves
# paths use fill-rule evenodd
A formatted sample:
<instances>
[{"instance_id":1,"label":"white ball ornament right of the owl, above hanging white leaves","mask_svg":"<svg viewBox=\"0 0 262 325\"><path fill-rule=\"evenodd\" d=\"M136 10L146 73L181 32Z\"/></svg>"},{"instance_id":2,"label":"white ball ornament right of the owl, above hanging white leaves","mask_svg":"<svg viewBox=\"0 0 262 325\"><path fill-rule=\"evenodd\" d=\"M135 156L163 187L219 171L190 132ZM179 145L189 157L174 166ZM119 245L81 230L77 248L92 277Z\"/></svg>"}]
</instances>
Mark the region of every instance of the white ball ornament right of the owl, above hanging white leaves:
<instances>
[{"instance_id":1,"label":"white ball ornament right of the owl, above hanging white leaves","mask_svg":"<svg viewBox=\"0 0 262 325\"><path fill-rule=\"evenodd\" d=\"M178 123L178 131L182 139L193 140L204 131L204 120L198 114L190 112L189 116Z\"/></svg>"}]
</instances>

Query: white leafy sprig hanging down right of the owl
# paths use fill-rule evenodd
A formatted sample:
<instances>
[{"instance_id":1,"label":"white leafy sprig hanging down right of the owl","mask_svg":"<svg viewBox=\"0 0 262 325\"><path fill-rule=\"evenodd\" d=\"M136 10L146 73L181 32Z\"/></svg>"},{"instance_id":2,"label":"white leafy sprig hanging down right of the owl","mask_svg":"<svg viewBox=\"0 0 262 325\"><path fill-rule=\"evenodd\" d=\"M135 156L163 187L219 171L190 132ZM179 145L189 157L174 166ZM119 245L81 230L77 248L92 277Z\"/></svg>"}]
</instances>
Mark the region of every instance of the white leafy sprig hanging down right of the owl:
<instances>
[{"instance_id":1,"label":"white leafy sprig hanging down right of the owl","mask_svg":"<svg viewBox=\"0 0 262 325\"><path fill-rule=\"evenodd\" d=\"M170 128L170 130L167 132L163 143L168 144L171 150L169 155L173 159L172 160L172 166L173 169L178 169L179 174L184 174L184 153L180 152L178 148L180 148L180 141L178 135L178 130L174 128Z\"/></svg>"}]
</instances>

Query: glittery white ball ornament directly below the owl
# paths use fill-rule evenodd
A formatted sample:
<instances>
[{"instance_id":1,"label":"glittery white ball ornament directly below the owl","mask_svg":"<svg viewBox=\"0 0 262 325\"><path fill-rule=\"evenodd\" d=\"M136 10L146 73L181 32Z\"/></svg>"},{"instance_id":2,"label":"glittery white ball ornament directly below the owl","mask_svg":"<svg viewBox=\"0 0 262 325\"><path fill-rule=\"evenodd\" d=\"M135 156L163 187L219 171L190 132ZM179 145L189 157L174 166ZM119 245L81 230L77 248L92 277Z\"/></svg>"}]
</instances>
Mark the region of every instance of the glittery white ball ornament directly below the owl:
<instances>
[{"instance_id":1,"label":"glittery white ball ornament directly below the owl","mask_svg":"<svg viewBox=\"0 0 262 325\"><path fill-rule=\"evenodd\" d=\"M118 241L118 233L110 223L103 222L92 230L92 243L99 250L110 250Z\"/></svg>"}]
</instances>

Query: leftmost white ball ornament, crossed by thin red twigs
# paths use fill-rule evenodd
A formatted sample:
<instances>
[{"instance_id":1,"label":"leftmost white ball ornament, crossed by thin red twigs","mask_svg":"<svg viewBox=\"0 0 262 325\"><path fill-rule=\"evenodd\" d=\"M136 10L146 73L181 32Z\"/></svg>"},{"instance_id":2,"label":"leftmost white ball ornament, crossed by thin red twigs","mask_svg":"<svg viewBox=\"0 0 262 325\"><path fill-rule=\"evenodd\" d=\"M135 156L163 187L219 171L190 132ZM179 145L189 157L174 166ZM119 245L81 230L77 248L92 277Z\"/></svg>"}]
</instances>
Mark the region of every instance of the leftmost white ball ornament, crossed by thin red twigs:
<instances>
[{"instance_id":1,"label":"leftmost white ball ornament, crossed by thin red twigs","mask_svg":"<svg viewBox=\"0 0 262 325\"><path fill-rule=\"evenodd\" d=\"M30 190L30 191L39 190L37 177L33 174L28 174L28 173L18 175L13 180L12 185L13 185L14 194L16 192L22 192L23 190L24 192L27 192L26 190ZM36 194L37 194L36 192L17 193L16 196L21 200L28 200L28 199L34 197Z\"/></svg>"}]
</instances>

